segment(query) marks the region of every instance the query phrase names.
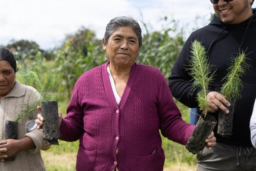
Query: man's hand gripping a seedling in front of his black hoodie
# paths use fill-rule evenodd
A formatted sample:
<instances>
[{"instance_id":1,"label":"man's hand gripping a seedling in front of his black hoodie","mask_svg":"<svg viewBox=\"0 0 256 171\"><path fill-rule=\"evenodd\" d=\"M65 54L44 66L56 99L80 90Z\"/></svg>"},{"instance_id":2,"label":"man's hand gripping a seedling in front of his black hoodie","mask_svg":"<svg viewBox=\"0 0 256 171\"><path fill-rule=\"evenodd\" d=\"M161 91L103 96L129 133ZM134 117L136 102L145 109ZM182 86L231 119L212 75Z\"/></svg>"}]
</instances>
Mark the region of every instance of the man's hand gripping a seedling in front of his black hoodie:
<instances>
[{"instance_id":1,"label":"man's hand gripping a seedling in front of his black hoodie","mask_svg":"<svg viewBox=\"0 0 256 171\"><path fill-rule=\"evenodd\" d=\"M230 106L230 103L221 93L211 91L207 94L207 101L209 102L209 111L216 113L219 109L225 113L229 113L229 110L224 106Z\"/></svg>"}]
</instances>

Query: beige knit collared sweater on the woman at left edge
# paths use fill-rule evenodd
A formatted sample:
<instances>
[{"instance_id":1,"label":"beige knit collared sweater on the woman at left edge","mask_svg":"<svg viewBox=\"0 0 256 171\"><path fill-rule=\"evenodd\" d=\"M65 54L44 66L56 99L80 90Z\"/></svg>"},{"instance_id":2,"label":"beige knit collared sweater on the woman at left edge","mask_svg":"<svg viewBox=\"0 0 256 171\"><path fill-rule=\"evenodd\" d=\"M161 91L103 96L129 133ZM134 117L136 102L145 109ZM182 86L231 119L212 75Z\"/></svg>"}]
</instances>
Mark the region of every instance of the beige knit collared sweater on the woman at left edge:
<instances>
[{"instance_id":1,"label":"beige knit collared sweater on the woman at left edge","mask_svg":"<svg viewBox=\"0 0 256 171\"><path fill-rule=\"evenodd\" d=\"M0 140L4 139L5 122L12 121L21 110L27 109L27 104L38 98L37 90L33 87L15 81L13 89L1 99L0 103ZM28 136L35 143L36 148L21 151L15 155L14 161L0 162L0 171L46 171L40 150L49 145L43 141L42 130L32 130L27 133L26 122L36 119L37 113L27 116L18 122L18 139Z\"/></svg>"}]
</instances>

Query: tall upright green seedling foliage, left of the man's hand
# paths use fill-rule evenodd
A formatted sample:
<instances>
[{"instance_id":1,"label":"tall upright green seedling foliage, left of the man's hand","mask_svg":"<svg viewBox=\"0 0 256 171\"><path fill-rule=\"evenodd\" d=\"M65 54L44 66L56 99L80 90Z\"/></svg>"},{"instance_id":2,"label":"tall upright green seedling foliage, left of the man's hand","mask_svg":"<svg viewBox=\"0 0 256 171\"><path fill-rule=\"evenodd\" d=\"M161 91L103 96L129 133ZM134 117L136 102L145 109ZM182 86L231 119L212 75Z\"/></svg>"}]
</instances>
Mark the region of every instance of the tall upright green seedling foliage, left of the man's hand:
<instances>
[{"instance_id":1,"label":"tall upright green seedling foliage, left of the man's hand","mask_svg":"<svg viewBox=\"0 0 256 171\"><path fill-rule=\"evenodd\" d=\"M192 56L189 61L189 75L191 75L195 81L192 83L192 90L197 87L201 88L201 91L197 93L196 100L198 101L198 107L202 110L202 113L206 116L209 111L209 102L207 101L207 93L209 82L213 80L214 73L209 69L209 63L207 61L207 52L201 42L195 40L191 46Z\"/></svg>"}]
</instances>

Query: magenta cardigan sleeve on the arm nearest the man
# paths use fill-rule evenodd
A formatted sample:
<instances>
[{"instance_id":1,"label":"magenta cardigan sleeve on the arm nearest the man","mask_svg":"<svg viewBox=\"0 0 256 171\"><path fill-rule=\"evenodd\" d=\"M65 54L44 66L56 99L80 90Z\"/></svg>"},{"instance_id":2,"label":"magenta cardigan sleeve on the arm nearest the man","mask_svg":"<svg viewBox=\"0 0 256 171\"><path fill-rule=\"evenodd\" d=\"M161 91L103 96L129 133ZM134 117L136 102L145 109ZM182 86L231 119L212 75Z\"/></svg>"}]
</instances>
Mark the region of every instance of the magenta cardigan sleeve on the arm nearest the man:
<instances>
[{"instance_id":1,"label":"magenta cardigan sleeve on the arm nearest the man","mask_svg":"<svg viewBox=\"0 0 256 171\"><path fill-rule=\"evenodd\" d=\"M168 139L185 145L194 130L194 125L181 118L180 110L173 100L165 78L162 78L158 100L160 130Z\"/></svg>"}]
</instances>

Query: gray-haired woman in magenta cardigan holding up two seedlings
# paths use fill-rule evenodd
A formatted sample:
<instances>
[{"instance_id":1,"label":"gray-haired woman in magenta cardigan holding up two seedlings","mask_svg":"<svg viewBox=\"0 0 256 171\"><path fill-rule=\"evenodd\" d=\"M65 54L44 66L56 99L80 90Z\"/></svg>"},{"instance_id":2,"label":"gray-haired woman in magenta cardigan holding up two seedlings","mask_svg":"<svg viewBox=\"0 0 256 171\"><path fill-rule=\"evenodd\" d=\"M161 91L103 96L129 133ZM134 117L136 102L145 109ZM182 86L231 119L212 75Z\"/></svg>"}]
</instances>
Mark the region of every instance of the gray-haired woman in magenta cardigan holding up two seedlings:
<instances>
[{"instance_id":1,"label":"gray-haired woman in magenta cardigan holding up two seedlings","mask_svg":"<svg viewBox=\"0 0 256 171\"><path fill-rule=\"evenodd\" d=\"M60 119L60 139L80 139L77 171L161 171L159 129L185 145L194 126L181 119L160 70L135 63L142 45L135 20L113 18L102 42L109 61L76 82L67 116ZM38 114L36 122L42 126L43 120ZM215 145L213 133L208 138Z\"/></svg>"}]
</instances>

